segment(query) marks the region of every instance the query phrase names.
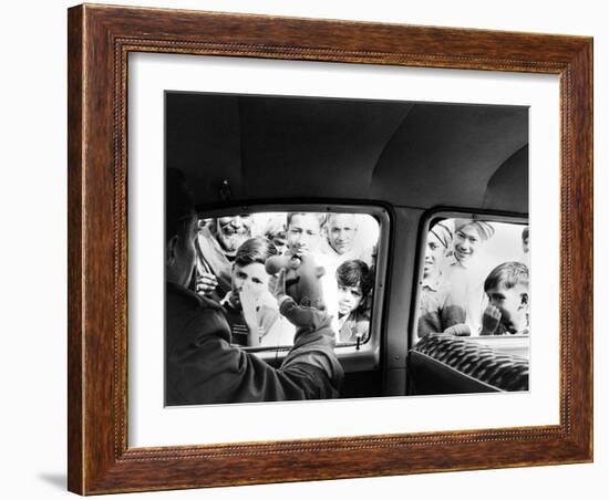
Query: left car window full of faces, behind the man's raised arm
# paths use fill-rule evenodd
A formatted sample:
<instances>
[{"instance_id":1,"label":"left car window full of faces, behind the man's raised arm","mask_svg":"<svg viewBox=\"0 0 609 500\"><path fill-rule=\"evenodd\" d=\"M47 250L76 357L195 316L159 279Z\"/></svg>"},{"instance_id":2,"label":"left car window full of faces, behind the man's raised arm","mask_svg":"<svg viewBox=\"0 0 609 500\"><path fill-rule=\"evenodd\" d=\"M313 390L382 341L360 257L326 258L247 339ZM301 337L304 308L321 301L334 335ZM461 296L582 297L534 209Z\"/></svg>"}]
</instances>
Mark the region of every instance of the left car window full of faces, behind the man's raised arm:
<instances>
[{"instance_id":1,"label":"left car window full of faces, behind the man's raised arm","mask_svg":"<svg viewBox=\"0 0 609 500\"><path fill-rule=\"evenodd\" d=\"M361 345L371 336L380 230L372 215L349 211L202 218L192 288L224 306L234 344L287 347L296 327L276 298L286 269L287 295L326 311L337 345Z\"/></svg>"}]
</instances>

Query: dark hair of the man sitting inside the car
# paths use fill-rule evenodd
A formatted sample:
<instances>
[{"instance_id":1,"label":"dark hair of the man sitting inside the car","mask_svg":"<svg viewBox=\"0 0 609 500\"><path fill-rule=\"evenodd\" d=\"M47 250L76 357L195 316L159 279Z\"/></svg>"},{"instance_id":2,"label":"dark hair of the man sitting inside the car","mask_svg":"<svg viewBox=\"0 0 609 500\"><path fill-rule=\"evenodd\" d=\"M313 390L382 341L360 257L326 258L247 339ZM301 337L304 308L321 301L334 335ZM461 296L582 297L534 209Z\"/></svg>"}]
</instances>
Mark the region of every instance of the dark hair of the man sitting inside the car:
<instances>
[{"instance_id":1,"label":"dark hair of the man sitting inside the car","mask_svg":"<svg viewBox=\"0 0 609 500\"><path fill-rule=\"evenodd\" d=\"M165 242L184 237L195 216L195 201L186 187L182 170L168 168L165 174Z\"/></svg>"}]
</instances>

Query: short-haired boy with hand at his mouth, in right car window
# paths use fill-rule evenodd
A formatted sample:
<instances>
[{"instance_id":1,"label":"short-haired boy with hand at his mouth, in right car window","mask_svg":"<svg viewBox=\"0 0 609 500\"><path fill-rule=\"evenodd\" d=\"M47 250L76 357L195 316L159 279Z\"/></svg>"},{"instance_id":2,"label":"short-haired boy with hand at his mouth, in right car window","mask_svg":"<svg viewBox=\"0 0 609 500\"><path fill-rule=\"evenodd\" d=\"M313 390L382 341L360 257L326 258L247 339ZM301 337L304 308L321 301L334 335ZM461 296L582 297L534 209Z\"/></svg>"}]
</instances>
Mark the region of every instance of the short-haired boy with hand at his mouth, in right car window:
<instances>
[{"instance_id":1,"label":"short-haired boy with hand at his mouth, in right car window","mask_svg":"<svg viewBox=\"0 0 609 500\"><path fill-rule=\"evenodd\" d=\"M528 268L522 262L497 265L484 282L488 305L481 335L526 335L528 330Z\"/></svg>"}]
</instances>

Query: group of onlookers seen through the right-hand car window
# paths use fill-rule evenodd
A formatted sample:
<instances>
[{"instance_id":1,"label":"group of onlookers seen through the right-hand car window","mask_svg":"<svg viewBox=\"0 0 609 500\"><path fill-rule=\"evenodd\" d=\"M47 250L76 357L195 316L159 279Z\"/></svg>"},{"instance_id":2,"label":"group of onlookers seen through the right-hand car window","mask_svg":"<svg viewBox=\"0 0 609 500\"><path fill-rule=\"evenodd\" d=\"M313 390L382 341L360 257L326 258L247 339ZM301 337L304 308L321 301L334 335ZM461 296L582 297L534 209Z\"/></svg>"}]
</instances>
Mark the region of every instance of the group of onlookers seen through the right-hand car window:
<instances>
[{"instance_id":1,"label":"group of onlookers seen through the right-hand car window","mask_svg":"<svg viewBox=\"0 0 609 500\"><path fill-rule=\"evenodd\" d=\"M520 232L518 260L487 272L481 264L496 223L477 219L434 220L427 233L420 289L417 335L529 333L529 230Z\"/></svg>"}]
</instances>

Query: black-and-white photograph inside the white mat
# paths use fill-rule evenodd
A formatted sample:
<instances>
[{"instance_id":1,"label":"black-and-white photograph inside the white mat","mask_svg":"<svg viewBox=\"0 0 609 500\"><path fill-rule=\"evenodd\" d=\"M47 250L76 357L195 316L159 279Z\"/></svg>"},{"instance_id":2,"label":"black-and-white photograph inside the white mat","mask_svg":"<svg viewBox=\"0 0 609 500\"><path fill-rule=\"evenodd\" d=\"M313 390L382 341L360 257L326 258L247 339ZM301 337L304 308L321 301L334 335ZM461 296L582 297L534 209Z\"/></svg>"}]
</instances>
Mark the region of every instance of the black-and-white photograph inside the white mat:
<instances>
[{"instance_id":1,"label":"black-and-white photograph inside the white mat","mask_svg":"<svg viewBox=\"0 0 609 500\"><path fill-rule=\"evenodd\" d=\"M165 91L164 405L529 390L529 112Z\"/></svg>"}]
</instances>

